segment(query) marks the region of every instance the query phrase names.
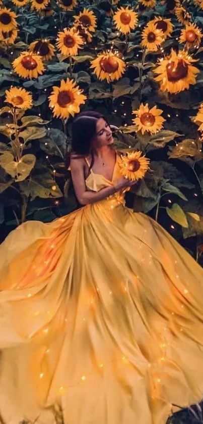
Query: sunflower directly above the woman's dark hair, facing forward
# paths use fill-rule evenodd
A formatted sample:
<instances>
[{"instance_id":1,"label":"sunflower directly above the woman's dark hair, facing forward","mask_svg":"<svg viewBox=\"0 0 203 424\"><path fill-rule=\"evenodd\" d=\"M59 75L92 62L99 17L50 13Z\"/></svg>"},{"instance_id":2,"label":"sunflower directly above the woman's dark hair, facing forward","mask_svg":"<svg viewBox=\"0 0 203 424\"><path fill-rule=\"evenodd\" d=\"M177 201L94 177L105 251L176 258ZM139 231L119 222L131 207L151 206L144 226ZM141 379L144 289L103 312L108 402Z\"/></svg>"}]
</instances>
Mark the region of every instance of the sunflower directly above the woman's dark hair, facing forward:
<instances>
[{"instance_id":1,"label":"sunflower directly above the woman's dark hair, facing forward","mask_svg":"<svg viewBox=\"0 0 203 424\"><path fill-rule=\"evenodd\" d=\"M82 94L76 81L73 79L62 80L60 87L53 87L49 96L49 107L53 110L53 115L57 118L67 119L70 115L80 112L80 105L84 105L87 97Z\"/></svg>"}]
</instances>

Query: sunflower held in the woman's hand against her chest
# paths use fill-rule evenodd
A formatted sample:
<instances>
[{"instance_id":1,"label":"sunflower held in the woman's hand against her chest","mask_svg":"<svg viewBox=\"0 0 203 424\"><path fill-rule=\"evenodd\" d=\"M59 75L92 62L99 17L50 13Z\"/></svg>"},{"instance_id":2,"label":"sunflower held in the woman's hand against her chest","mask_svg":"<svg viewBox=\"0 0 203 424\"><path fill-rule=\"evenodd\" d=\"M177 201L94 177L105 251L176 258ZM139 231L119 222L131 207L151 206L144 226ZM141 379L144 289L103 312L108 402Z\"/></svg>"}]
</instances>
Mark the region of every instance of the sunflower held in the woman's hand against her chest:
<instances>
[{"instance_id":1,"label":"sunflower held in the woman's hand against her chest","mask_svg":"<svg viewBox=\"0 0 203 424\"><path fill-rule=\"evenodd\" d=\"M119 161L120 173L132 181L144 178L149 169L149 163L150 160L143 156L142 152L127 152Z\"/></svg>"}]
</instances>

